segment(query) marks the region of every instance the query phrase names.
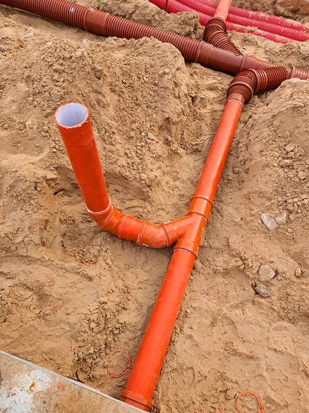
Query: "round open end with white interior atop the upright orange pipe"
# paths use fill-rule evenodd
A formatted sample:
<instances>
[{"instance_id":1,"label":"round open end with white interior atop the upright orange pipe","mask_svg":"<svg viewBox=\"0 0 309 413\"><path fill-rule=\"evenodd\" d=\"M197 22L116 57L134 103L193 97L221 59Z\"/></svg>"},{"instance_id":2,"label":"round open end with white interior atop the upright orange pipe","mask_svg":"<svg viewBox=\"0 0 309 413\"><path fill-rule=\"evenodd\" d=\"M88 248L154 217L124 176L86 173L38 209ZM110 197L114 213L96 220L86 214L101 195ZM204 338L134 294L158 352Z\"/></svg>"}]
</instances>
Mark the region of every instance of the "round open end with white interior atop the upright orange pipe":
<instances>
[{"instance_id":1,"label":"round open end with white interior atop the upright orange pipe","mask_svg":"<svg viewBox=\"0 0 309 413\"><path fill-rule=\"evenodd\" d=\"M89 118L87 107L80 103L68 103L60 106L55 114L58 127L67 129L81 127Z\"/></svg>"}]
</instances>

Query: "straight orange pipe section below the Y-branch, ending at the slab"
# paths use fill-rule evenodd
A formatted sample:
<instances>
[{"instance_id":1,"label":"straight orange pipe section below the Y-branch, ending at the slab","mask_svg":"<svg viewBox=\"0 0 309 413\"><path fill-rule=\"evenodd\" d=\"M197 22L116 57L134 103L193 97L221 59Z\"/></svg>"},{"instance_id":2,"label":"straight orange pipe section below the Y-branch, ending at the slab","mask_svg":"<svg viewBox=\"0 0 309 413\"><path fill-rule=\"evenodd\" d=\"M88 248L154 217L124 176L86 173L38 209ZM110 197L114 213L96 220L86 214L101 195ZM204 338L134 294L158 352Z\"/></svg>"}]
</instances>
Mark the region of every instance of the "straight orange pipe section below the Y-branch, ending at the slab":
<instances>
[{"instance_id":1,"label":"straight orange pipe section below the Y-branch, ending at the slab","mask_svg":"<svg viewBox=\"0 0 309 413\"><path fill-rule=\"evenodd\" d=\"M170 337L196 257L176 249L139 348L122 401L149 412Z\"/></svg>"}]
</instances>

